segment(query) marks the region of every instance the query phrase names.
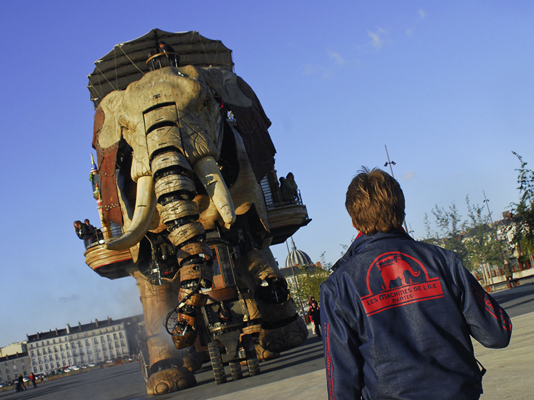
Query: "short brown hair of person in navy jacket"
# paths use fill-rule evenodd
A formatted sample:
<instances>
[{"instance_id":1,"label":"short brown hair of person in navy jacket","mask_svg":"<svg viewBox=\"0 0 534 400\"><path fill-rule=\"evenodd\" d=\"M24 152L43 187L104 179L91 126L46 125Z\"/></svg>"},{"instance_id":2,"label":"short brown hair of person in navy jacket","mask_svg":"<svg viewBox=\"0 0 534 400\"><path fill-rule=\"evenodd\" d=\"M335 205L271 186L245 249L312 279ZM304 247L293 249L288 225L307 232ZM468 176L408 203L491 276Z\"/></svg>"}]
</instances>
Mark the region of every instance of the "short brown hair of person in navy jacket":
<instances>
[{"instance_id":1,"label":"short brown hair of person in navy jacket","mask_svg":"<svg viewBox=\"0 0 534 400\"><path fill-rule=\"evenodd\" d=\"M378 168L362 170L347 189L345 207L354 227L364 235L387 232L404 221L404 194L399 183Z\"/></svg>"}]
</instances>

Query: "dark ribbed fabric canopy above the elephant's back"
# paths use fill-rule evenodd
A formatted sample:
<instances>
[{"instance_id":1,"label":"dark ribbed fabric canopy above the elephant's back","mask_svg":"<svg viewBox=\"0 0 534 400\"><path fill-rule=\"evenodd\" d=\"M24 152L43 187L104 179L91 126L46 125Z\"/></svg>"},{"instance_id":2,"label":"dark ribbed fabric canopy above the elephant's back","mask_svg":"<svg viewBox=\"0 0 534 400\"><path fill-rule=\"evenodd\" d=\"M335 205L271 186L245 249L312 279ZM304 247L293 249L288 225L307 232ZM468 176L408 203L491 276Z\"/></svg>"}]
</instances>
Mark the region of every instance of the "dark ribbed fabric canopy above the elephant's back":
<instances>
[{"instance_id":1,"label":"dark ribbed fabric canopy above the elephant's back","mask_svg":"<svg viewBox=\"0 0 534 400\"><path fill-rule=\"evenodd\" d=\"M203 37L198 31L152 29L137 39L116 44L112 51L95 61L87 86L95 109L108 93L126 89L149 71L146 65L148 52L158 51L161 41L172 46L180 55L180 65L223 67L233 72L232 50L221 41Z\"/></svg>"}]
</instances>

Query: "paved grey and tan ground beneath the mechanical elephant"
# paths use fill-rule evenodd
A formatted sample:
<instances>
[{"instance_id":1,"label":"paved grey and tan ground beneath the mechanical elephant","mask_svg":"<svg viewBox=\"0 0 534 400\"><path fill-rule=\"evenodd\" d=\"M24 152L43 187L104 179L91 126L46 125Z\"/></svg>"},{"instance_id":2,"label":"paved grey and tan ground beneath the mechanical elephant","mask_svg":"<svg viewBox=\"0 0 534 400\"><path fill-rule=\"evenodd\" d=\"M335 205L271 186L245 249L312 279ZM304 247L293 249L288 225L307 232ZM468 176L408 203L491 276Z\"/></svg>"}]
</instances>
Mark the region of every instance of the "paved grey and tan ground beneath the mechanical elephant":
<instances>
[{"instance_id":1,"label":"paved grey and tan ground beneath the mechanical elephant","mask_svg":"<svg viewBox=\"0 0 534 400\"><path fill-rule=\"evenodd\" d=\"M482 400L530 400L534 398L534 283L493 292L493 297L512 317L513 334L505 349L486 349L474 342L478 360L488 370L483 379ZM215 385L213 373L204 367L195 374L197 386L158 397L147 396L138 363L115 366L47 382L23 393L0 393L0 400L141 400L141 399L326 399L323 348L310 337L303 346L261 364L262 374ZM228 372L228 371L227 371ZM245 374L246 375L246 374Z\"/></svg>"}]
</instances>

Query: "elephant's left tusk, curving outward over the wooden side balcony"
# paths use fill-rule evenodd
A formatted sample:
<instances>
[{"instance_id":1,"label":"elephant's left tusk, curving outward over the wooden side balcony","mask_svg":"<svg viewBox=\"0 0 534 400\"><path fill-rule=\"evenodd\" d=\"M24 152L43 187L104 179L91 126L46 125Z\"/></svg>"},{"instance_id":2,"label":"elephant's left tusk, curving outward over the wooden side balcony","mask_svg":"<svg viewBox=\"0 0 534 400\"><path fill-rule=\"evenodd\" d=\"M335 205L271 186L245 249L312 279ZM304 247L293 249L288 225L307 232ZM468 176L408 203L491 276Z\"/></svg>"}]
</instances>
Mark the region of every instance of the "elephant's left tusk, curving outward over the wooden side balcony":
<instances>
[{"instance_id":1,"label":"elephant's left tusk, curving outward over the wooden side balcony","mask_svg":"<svg viewBox=\"0 0 534 400\"><path fill-rule=\"evenodd\" d=\"M120 238L106 244L108 250L127 250L135 246L145 236L152 214L156 209L156 194L151 176L137 180L137 196L135 210L130 227Z\"/></svg>"}]
</instances>

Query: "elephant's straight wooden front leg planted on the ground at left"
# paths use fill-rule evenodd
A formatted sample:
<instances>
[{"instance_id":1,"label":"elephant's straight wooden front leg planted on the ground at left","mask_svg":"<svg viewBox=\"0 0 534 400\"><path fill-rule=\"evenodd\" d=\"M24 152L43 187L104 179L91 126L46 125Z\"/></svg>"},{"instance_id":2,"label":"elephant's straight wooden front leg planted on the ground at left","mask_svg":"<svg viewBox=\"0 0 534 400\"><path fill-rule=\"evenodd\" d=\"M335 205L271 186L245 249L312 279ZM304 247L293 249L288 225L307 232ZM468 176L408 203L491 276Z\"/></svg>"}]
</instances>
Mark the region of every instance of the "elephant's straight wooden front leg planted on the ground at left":
<instances>
[{"instance_id":1,"label":"elephant's straight wooden front leg planted on the ground at left","mask_svg":"<svg viewBox=\"0 0 534 400\"><path fill-rule=\"evenodd\" d=\"M193 373L183 366L169 334L161 323L169 308L176 303L176 285L152 285L136 274L145 315L145 331L149 354L150 377L146 385L149 395L160 395L196 385Z\"/></svg>"}]
</instances>

